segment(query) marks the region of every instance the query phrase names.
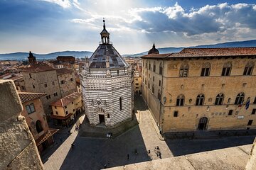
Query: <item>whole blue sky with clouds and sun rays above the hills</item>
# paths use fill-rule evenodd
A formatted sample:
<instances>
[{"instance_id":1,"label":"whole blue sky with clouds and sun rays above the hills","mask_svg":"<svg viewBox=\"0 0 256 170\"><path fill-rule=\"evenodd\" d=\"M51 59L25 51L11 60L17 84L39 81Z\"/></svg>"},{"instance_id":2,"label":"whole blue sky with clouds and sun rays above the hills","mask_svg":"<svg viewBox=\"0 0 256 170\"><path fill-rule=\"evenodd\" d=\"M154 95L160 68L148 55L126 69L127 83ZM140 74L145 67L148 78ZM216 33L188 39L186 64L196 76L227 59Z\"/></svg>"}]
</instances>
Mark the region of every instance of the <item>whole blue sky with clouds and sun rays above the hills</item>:
<instances>
[{"instance_id":1,"label":"whole blue sky with clouds and sun rays above the hills","mask_svg":"<svg viewBox=\"0 0 256 170\"><path fill-rule=\"evenodd\" d=\"M255 0L0 0L0 53L93 52L103 18L122 55L256 39Z\"/></svg>"}]
</instances>

